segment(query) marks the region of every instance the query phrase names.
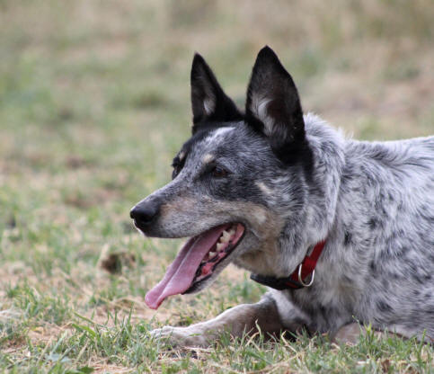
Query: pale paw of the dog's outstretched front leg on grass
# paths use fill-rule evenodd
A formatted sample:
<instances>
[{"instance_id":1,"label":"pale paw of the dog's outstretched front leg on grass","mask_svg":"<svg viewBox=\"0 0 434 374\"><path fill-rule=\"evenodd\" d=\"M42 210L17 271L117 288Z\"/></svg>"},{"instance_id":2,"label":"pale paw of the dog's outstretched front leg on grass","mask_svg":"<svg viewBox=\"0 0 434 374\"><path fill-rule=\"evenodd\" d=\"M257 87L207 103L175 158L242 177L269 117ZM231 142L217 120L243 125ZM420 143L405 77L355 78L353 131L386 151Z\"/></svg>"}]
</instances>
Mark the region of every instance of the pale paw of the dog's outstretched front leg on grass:
<instances>
[{"instance_id":1,"label":"pale paw of the dog's outstretched front leg on grass","mask_svg":"<svg viewBox=\"0 0 434 374\"><path fill-rule=\"evenodd\" d=\"M173 347L208 347L209 341L203 331L191 327L164 326L151 331L151 337Z\"/></svg>"}]
</instances>

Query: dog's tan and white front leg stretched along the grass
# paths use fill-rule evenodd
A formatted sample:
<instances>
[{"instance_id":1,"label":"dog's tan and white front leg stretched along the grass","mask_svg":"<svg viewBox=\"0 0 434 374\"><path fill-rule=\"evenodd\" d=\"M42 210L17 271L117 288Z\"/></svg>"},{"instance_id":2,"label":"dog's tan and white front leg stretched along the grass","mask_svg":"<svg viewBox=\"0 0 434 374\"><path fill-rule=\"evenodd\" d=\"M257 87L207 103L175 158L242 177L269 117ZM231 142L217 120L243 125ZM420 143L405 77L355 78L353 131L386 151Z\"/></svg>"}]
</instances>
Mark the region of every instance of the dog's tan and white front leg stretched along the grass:
<instances>
[{"instance_id":1,"label":"dog's tan and white front leg stretched along the grass","mask_svg":"<svg viewBox=\"0 0 434 374\"><path fill-rule=\"evenodd\" d=\"M215 341L219 334L228 332L232 336L252 334L261 329L263 334L277 334L284 326L279 312L270 296L266 295L256 304L242 304L226 310L207 322L188 327L165 326L151 332L155 338L166 338L173 345L204 347Z\"/></svg>"}]
</instances>

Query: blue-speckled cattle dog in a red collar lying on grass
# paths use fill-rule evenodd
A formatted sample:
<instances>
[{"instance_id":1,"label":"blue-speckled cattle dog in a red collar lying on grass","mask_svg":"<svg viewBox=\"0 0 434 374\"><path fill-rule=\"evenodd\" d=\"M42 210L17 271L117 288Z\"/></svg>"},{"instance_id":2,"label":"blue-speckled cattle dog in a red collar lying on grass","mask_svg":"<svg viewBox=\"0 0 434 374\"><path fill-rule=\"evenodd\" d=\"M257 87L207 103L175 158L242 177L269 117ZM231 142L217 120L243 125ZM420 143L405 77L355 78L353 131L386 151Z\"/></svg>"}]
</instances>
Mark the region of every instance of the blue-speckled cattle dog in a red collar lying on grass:
<instances>
[{"instance_id":1,"label":"blue-speckled cattle dog in a red collar lying on grass","mask_svg":"<svg viewBox=\"0 0 434 374\"><path fill-rule=\"evenodd\" d=\"M256 304L208 322L152 332L181 346L233 336L340 336L371 325L434 339L434 137L345 138L312 113L269 47L245 111L193 58L192 136L173 181L130 211L145 236L190 237L154 289L156 309L210 286L235 263L269 287Z\"/></svg>"}]
</instances>

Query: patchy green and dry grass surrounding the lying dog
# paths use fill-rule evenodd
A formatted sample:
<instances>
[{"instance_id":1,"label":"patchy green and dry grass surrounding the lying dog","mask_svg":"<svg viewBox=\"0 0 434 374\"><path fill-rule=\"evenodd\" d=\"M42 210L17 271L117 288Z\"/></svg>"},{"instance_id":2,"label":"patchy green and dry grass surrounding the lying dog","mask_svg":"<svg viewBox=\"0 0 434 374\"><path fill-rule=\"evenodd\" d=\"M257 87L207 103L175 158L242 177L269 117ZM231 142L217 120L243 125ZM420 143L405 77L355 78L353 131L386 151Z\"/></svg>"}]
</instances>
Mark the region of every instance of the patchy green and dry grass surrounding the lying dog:
<instances>
[{"instance_id":1,"label":"patchy green and dry grass surrounding the lying dog","mask_svg":"<svg viewBox=\"0 0 434 374\"><path fill-rule=\"evenodd\" d=\"M129 208L170 178L190 133L194 50L243 104L255 53L276 49L306 110L366 139L434 129L429 0L0 0L0 371L433 372L433 349L368 334L222 336L173 350L156 326L199 322L264 289L228 268L157 313L146 290L180 242L144 240ZM121 254L113 274L102 269Z\"/></svg>"}]
</instances>

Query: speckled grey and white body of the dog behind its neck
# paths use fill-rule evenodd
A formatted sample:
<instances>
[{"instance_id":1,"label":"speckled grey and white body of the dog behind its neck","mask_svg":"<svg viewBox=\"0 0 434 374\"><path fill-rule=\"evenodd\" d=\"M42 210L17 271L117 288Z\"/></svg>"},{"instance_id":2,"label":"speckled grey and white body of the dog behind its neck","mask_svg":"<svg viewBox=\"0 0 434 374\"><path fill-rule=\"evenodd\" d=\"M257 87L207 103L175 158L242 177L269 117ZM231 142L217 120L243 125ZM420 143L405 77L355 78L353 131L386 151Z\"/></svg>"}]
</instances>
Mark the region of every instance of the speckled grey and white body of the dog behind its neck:
<instances>
[{"instance_id":1,"label":"speckled grey and white body of the dog behind its neck","mask_svg":"<svg viewBox=\"0 0 434 374\"><path fill-rule=\"evenodd\" d=\"M404 335L434 336L434 137L344 145L329 260L351 313Z\"/></svg>"}]
</instances>

